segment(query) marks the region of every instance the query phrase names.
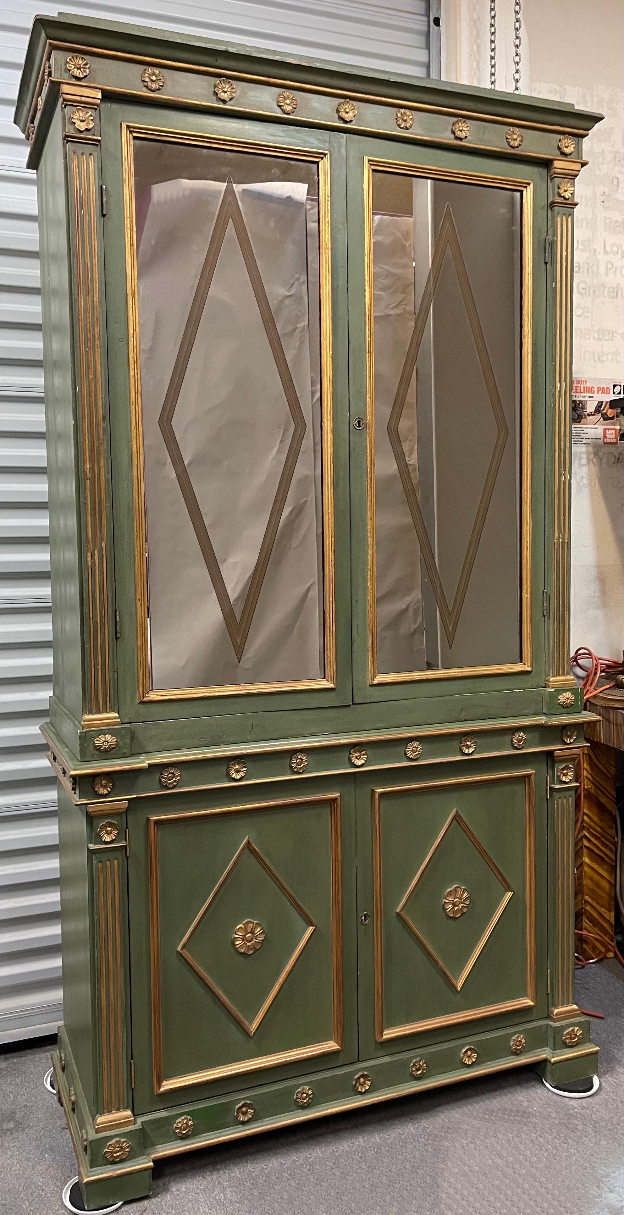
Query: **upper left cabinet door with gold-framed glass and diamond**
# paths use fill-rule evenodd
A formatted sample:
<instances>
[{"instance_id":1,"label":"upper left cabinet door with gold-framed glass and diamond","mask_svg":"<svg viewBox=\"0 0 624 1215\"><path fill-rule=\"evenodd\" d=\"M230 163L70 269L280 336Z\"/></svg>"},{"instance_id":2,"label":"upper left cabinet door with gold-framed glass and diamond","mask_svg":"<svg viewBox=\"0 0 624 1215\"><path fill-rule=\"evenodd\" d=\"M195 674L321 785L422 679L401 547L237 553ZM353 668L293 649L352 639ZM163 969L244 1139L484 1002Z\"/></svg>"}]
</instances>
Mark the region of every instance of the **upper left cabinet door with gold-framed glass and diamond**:
<instances>
[{"instance_id":1,"label":"upper left cabinet door with gold-framed glass and diamond","mask_svg":"<svg viewBox=\"0 0 624 1215\"><path fill-rule=\"evenodd\" d=\"M137 699L335 700L329 141L195 125L120 124Z\"/></svg>"}]
</instances>

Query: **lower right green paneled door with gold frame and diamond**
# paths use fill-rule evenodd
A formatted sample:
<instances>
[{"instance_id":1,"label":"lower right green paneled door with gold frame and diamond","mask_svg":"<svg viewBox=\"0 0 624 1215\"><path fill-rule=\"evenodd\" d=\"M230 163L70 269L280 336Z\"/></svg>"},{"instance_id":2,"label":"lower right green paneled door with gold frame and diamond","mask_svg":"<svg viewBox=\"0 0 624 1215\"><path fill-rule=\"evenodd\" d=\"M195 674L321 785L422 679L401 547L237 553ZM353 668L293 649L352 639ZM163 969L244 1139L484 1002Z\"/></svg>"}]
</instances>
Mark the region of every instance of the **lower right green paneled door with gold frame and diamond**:
<instances>
[{"instance_id":1,"label":"lower right green paneled door with gold frame and diamond","mask_svg":"<svg viewBox=\"0 0 624 1215\"><path fill-rule=\"evenodd\" d=\"M359 928L364 1055L545 1012L534 762L419 775L358 790L359 911L371 915Z\"/></svg>"}]
</instances>

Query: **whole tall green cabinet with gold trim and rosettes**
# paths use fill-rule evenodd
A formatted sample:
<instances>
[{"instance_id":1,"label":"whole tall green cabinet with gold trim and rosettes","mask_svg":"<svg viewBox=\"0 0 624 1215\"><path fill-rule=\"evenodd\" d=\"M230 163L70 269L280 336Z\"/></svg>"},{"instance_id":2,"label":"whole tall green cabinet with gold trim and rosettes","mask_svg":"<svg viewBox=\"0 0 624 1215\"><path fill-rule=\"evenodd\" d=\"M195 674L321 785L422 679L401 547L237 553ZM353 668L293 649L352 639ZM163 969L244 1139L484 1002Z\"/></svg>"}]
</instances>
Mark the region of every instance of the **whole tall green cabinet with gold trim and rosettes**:
<instances>
[{"instance_id":1,"label":"whole tall green cabinet with gold trim and rosettes","mask_svg":"<svg viewBox=\"0 0 624 1215\"><path fill-rule=\"evenodd\" d=\"M64 1023L87 1209L532 1066L574 1004L574 182L599 115L38 17Z\"/></svg>"}]
</instances>

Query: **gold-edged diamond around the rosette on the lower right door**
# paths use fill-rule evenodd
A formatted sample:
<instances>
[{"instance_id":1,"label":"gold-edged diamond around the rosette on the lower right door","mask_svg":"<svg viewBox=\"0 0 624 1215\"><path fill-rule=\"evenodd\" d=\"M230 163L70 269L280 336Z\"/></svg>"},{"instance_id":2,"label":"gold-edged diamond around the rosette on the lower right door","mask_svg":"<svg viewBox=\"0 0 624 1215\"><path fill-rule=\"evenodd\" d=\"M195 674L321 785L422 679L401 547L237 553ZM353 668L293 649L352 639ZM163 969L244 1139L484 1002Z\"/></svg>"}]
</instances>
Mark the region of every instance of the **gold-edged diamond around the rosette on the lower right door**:
<instances>
[{"instance_id":1,"label":"gold-edged diamond around the rosette on the lower right door","mask_svg":"<svg viewBox=\"0 0 624 1215\"><path fill-rule=\"evenodd\" d=\"M470 905L465 915L449 919L443 900L454 882L470 893ZM460 991L512 893L489 853L454 809L397 915Z\"/></svg>"}]
</instances>

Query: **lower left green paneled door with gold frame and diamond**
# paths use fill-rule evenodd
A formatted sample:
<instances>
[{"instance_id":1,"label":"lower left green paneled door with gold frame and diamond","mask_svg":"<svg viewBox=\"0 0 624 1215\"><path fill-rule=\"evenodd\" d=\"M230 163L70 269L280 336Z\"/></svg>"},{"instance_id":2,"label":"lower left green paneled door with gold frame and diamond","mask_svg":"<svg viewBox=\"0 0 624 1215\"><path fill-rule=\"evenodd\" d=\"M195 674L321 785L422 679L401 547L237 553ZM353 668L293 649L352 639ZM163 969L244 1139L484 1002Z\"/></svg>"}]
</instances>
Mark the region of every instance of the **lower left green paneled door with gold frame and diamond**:
<instances>
[{"instance_id":1,"label":"lower left green paneled door with gold frame and diamond","mask_svg":"<svg viewBox=\"0 0 624 1215\"><path fill-rule=\"evenodd\" d=\"M158 798L132 825L142 1109L356 1057L352 780L340 784Z\"/></svg>"}]
</instances>

